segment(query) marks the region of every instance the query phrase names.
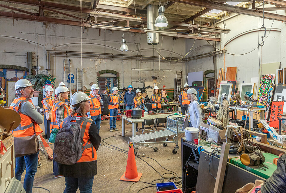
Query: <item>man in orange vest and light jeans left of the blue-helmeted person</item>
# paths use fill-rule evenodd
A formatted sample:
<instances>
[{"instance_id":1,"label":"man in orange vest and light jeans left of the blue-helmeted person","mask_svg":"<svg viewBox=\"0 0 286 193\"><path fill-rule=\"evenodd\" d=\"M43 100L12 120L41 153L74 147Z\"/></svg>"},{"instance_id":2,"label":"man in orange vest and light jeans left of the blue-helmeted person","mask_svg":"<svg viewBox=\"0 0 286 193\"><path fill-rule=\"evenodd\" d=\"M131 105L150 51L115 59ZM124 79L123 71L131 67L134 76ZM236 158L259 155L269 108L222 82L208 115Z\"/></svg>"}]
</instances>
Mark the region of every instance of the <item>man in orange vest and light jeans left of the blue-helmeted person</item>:
<instances>
[{"instance_id":1,"label":"man in orange vest and light jeans left of the blue-helmeted person","mask_svg":"<svg viewBox=\"0 0 286 193\"><path fill-rule=\"evenodd\" d=\"M109 116L117 116L117 114L120 112L119 109L119 96L118 96L118 88L113 87L112 93L108 95L107 97L107 103L108 103L108 109L109 109ZM113 130L118 131L116 128L116 117L110 117L109 119L109 131L113 132Z\"/></svg>"}]
</instances>

